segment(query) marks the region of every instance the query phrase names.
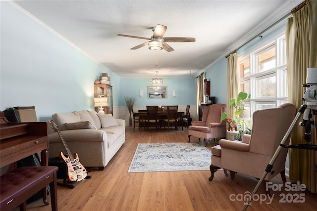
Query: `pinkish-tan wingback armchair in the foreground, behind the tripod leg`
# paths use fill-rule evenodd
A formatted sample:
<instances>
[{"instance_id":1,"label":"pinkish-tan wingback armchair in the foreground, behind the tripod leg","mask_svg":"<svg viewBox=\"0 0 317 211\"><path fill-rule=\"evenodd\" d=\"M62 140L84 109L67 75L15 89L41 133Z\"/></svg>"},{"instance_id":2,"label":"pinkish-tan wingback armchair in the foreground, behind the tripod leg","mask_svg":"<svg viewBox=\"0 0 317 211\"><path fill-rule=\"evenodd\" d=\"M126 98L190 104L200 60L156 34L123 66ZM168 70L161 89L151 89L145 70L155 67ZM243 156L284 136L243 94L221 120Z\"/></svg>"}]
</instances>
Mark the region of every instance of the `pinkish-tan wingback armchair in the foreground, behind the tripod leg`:
<instances>
[{"instance_id":1,"label":"pinkish-tan wingback armchair in the foreground, behind the tripod leg","mask_svg":"<svg viewBox=\"0 0 317 211\"><path fill-rule=\"evenodd\" d=\"M221 139L219 145L211 148L211 177L209 180L213 179L214 172L220 168L225 169L226 176L228 176L226 170L229 170L231 179L234 179L237 172L261 178L293 122L295 114L296 107L290 103L285 103L277 108L255 111L251 135L244 134L242 141ZM285 145L288 142L289 140ZM286 182L286 155L287 149L282 148L272 165L271 172L264 178L264 187L265 182L278 173L281 174L283 182Z\"/></svg>"}]
</instances>

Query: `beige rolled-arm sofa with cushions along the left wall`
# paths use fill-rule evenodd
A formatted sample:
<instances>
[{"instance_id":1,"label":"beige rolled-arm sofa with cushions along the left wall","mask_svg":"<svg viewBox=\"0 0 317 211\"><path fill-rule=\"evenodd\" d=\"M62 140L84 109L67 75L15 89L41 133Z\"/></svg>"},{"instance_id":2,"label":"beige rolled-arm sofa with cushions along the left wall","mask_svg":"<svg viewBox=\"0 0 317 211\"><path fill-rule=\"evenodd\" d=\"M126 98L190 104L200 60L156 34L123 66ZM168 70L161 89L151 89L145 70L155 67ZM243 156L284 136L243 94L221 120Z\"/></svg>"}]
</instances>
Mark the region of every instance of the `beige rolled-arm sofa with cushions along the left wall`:
<instances>
[{"instance_id":1,"label":"beige rolled-arm sofa with cushions along the left wall","mask_svg":"<svg viewBox=\"0 0 317 211\"><path fill-rule=\"evenodd\" d=\"M100 115L95 111L53 114L63 139L72 154L77 153L84 167L103 170L125 142L125 121L114 119L111 114ZM49 157L66 153L57 132L49 129Z\"/></svg>"}]
</instances>

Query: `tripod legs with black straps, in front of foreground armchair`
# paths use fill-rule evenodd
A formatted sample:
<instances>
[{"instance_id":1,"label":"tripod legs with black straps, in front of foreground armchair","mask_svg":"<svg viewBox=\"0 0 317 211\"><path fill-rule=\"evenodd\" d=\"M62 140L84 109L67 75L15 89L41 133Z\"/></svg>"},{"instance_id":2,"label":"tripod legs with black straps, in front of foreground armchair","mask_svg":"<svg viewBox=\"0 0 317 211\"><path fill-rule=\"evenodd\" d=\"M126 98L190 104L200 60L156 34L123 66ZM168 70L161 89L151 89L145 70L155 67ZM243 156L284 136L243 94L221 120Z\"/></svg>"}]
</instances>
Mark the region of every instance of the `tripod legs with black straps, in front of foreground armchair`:
<instances>
[{"instance_id":1,"label":"tripod legs with black straps, in front of foreground armchair","mask_svg":"<svg viewBox=\"0 0 317 211\"><path fill-rule=\"evenodd\" d=\"M307 109L308 105L304 104L302 105L299 110L298 113L296 114L291 126L288 128L288 130L286 131L282 141L280 142L279 146L277 147L273 157L271 158L270 162L268 163L268 165L266 166L266 169L264 171L264 174L262 175L261 179L259 180L258 184L256 185L256 187L254 188L253 192L250 195L250 198L248 199L248 201L245 203L242 211L245 211L248 207L248 205L250 204L253 195L256 193L256 191L258 190L259 186L261 185L261 183L263 182L265 176L267 175L267 173L271 172L271 169L273 168L272 164L274 163L274 161L276 160L279 152L281 151L282 148L297 148L297 149L308 149L308 150L315 150L317 151L317 145L313 145L313 144L298 144L298 145L289 145L286 146L284 145L285 142L288 140L289 136L291 135L293 129L295 128L297 122L299 121L299 119L301 118L301 116L304 114L304 111ZM315 115L315 122L316 122L316 117L317 117L317 110L316 108L309 108L313 110L313 113ZM316 132L316 127L315 127L315 132Z\"/></svg>"}]
</instances>

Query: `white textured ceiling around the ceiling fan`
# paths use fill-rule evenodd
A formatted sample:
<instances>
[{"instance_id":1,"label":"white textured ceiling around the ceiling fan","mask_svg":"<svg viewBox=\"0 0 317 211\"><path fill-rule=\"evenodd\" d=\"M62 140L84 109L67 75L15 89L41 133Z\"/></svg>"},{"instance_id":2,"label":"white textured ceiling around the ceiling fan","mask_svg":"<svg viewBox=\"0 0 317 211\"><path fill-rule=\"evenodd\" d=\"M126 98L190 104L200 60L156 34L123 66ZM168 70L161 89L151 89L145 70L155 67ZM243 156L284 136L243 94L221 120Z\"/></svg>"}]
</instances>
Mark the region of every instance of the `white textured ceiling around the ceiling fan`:
<instances>
[{"instance_id":1,"label":"white textured ceiling around the ceiling fan","mask_svg":"<svg viewBox=\"0 0 317 211\"><path fill-rule=\"evenodd\" d=\"M298 0L27 0L14 1L120 77L188 77L202 72L298 5ZM174 51L130 48L167 26Z\"/></svg>"}]
</instances>

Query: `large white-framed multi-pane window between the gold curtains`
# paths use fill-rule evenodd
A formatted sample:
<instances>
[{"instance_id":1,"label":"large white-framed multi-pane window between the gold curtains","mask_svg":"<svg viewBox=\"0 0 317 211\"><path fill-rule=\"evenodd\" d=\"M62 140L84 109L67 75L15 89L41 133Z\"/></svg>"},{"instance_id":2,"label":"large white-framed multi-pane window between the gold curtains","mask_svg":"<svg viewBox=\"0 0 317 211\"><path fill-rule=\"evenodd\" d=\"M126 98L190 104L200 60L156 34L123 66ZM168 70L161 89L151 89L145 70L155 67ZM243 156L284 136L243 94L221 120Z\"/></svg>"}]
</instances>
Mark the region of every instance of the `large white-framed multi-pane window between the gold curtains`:
<instances>
[{"instance_id":1,"label":"large white-framed multi-pane window between the gold curtains","mask_svg":"<svg viewBox=\"0 0 317 211\"><path fill-rule=\"evenodd\" d=\"M239 58L240 90L251 113L288 102L285 35Z\"/></svg>"}]
</instances>

